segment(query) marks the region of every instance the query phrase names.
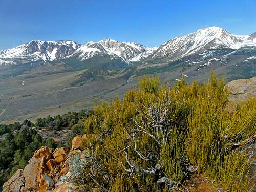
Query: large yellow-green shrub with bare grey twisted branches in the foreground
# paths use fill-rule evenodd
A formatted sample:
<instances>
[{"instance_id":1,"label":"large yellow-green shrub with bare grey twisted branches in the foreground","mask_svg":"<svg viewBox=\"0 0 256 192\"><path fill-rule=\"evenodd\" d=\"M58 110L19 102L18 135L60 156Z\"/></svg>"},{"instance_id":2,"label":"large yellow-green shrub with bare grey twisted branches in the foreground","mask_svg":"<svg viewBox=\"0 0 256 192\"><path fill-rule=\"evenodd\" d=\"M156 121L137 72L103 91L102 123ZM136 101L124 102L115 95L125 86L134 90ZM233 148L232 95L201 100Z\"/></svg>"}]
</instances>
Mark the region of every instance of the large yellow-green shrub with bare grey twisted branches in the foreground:
<instances>
[{"instance_id":1,"label":"large yellow-green shrub with bare grey twisted branches in the foreground","mask_svg":"<svg viewBox=\"0 0 256 192\"><path fill-rule=\"evenodd\" d=\"M252 191L247 146L255 139L256 99L227 106L224 79L213 74L205 84L183 78L170 88L159 82L143 76L139 88L84 118L84 174L74 184L81 190L187 191L186 181L201 174L224 190Z\"/></svg>"}]
</instances>

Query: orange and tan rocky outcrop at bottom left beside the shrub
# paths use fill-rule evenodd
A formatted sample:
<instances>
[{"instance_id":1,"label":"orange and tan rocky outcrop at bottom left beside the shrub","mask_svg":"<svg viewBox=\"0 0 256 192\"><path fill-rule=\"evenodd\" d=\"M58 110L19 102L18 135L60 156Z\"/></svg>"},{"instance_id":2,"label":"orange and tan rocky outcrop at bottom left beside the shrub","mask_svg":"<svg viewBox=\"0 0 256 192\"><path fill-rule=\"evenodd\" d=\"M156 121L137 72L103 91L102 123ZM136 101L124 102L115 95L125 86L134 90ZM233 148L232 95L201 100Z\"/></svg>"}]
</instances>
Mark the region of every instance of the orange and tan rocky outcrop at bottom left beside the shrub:
<instances>
[{"instance_id":1,"label":"orange and tan rocky outcrop at bottom left beside the shrub","mask_svg":"<svg viewBox=\"0 0 256 192\"><path fill-rule=\"evenodd\" d=\"M68 154L69 149L65 147L56 148L54 152L49 147L41 147L35 151L24 170L18 169L4 184L4 191L46 192L54 189L54 183L69 172L66 162ZM69 183L66 185L69 186ZM63 184L58 191L66 191L62 190L66 185Z\"/></svg>"}]
</instances>

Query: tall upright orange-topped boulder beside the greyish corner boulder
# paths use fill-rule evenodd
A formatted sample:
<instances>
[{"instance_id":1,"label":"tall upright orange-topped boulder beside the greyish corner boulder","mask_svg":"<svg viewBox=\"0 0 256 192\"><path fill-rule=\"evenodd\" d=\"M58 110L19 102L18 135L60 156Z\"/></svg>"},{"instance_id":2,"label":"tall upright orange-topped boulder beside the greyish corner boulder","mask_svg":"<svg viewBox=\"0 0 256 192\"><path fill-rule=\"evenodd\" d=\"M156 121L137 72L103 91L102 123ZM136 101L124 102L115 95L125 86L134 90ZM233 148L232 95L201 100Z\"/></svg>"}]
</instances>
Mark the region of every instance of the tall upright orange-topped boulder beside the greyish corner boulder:
<instances>
[{"instance_id":1,"label":"tall upright orange-topped boulder beside the greyish corner boulder","mask_svg":"<svg viewBox=\"0 0 256 192\"><path fill-rule=\"evenodd\" d=\"M41 147L29 160L29 164L24 168L26 190L38 190L41 175L45 173L46 161L52 156L52 150L48 147Z\"/></svg>"}]
</instances>

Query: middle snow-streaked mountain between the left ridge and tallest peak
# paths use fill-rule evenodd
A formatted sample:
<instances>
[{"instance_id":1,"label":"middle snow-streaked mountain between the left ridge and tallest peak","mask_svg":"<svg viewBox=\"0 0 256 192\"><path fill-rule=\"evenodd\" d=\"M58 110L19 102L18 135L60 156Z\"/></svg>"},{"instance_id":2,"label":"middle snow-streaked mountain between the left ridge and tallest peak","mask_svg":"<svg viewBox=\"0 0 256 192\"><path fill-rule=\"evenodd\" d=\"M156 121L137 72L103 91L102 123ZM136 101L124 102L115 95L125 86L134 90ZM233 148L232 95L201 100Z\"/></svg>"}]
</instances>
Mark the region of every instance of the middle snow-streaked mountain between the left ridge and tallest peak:
<instances>
[{"instance_id":1,"label":"middle snow-streaked mountain between the left ridge and tallest peak","mask_svg":"<svg viewBox=\"0 0 256 192\"><path fill-rule=\"evenodd\" d=\"M136 62L146 58L155 48L147 48L134 42L119 42L105 39L99 42L88 42L82 45L69 57L78 56L80 60L87 60L94 56L108 55L112 59L121 58L125 62Z\"/></svg>"}]
</instances>

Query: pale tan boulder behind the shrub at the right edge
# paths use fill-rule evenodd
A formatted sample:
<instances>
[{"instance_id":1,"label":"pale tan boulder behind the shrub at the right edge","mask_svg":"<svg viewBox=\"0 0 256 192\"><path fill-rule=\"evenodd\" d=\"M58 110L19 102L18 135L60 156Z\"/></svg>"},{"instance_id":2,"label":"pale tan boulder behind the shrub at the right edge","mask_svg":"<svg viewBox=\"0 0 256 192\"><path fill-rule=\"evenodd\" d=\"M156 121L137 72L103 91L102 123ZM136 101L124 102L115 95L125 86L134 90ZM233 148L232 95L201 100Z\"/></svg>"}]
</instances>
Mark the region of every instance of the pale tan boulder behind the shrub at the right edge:
<instances>
[{"instance_id":1,"label":"pale tan boulder behind the shrub at the right edge","mask_svg":"<svg viewBox=\"0 0 256 192\"><path fill-rule=\"evenodd\" d=\"M230 81L225 88L229 91L230 101L244 101L256 96L256 77Z\"/></svg>"}]
</instances>

